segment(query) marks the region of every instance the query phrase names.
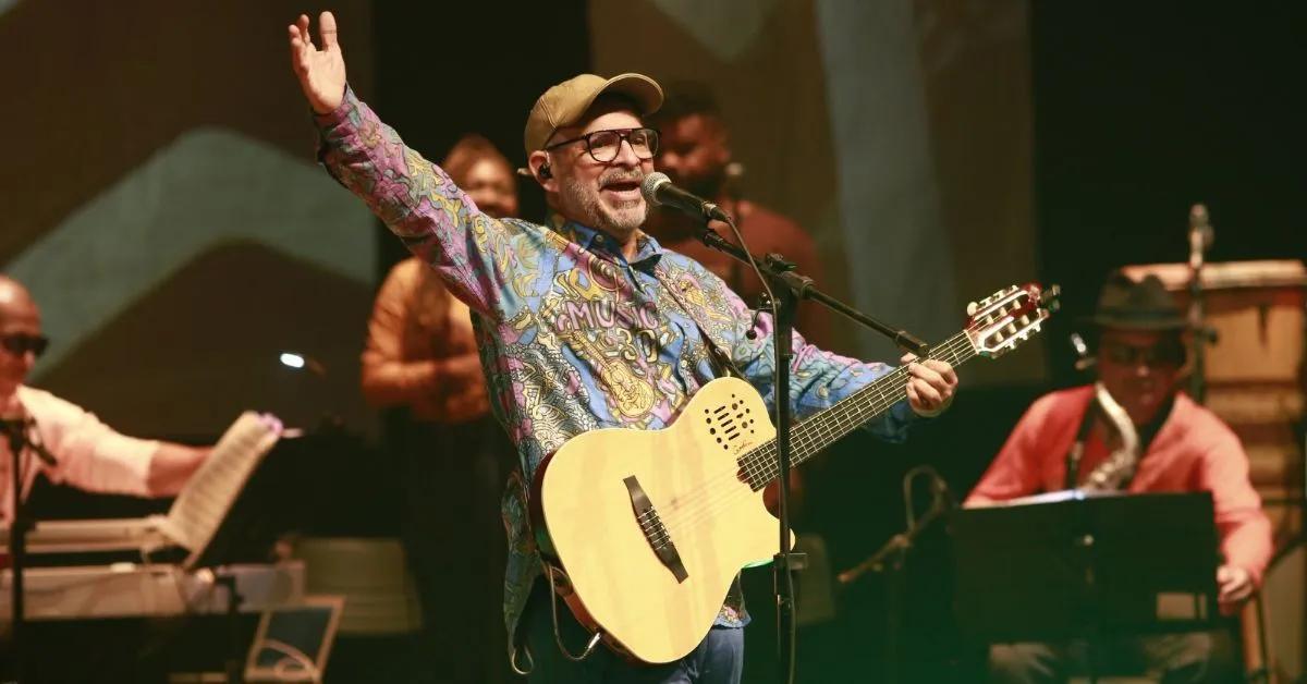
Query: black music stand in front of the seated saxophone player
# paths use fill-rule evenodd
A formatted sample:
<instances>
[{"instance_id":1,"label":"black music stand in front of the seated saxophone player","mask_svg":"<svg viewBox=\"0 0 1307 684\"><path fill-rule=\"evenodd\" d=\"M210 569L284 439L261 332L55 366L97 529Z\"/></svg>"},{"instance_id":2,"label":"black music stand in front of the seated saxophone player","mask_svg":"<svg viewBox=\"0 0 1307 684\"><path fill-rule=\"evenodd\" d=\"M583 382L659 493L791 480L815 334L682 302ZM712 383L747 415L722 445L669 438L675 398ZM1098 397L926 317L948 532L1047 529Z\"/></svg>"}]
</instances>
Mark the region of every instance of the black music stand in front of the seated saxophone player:
<instances>
[{"instance_id":1,"label":"black music stand in front of the seated saxophone player","mask_svg":"<svg viewBox=\"0 0 1307 684\"><path fill-rule=\"evenodd\" d=\"M955 611L976 643L1089 645L1104 636L1217 629L1212 494L1056 492L962 509L953 521ZM1162 613L1163 599L1192 606Z\"/></svg>"}]
</instances>

